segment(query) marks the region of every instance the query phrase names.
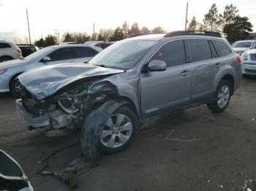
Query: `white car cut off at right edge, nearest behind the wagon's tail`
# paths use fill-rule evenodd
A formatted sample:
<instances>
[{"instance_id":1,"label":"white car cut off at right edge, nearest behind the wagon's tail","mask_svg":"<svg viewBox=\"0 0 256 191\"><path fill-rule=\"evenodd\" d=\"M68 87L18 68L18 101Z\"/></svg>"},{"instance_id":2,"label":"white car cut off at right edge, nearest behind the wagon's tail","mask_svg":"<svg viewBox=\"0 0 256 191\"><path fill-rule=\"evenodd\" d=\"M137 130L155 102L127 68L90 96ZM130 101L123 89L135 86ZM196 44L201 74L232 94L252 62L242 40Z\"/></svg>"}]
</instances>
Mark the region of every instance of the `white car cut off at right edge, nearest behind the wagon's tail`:
<instances>
[{"instance_id":1,"label":"white car cut off at right edge, nearest behind the wagon's tail","mask_svg":"<svg viewBox=\"0 0 256 191\"><path fill-rule=\"evenodd\" d=\"M247 50L241 55L244 75L256 76L256 49Z\"/></svg>"}]
</instances>

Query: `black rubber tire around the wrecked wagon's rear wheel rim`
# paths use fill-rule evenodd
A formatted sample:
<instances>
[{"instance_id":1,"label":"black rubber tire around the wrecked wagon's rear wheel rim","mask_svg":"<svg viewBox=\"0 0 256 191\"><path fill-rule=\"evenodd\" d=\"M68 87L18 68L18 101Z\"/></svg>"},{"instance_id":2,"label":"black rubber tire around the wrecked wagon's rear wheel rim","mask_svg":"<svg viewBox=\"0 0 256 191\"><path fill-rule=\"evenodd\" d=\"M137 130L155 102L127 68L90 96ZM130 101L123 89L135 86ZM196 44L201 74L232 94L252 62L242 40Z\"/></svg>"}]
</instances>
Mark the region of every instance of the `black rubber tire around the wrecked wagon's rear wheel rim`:
<instances>
[{"instance_id":1,"label":"black rubber tire around the wrecked wagon's rear wheel rim","mask_svg":"<svg viewBox=\"0 0 256 191\"><path fill-rule=\"evenodd\" d=\"M223 106L219 106L219 104L218 104L219 98L218 97L219 97L219 93L221 92L223 87L229 88L229 96L228 96L228 99L226 99L227 103ZM230 103L232 91L233 91L233 88L232 88L232 85L230 82L228 82L227 80L222 80L221 82L219 82L217 90L214 93L214 101L207 104L208 109L211 109L215 113L224 112L225 109L227 108L228 104Z\"/></svg>"}]
</instances>

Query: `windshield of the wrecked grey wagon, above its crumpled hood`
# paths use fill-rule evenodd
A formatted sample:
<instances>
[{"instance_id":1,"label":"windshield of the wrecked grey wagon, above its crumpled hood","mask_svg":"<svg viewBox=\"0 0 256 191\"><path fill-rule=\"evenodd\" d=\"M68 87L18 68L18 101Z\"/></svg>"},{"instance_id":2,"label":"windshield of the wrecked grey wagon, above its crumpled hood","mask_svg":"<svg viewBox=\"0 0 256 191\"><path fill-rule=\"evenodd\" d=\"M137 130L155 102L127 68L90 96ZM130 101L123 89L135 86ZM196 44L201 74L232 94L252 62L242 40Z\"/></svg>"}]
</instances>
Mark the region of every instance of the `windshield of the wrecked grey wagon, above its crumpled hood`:
<instances>
[{"instance_id":1,"label":"windshield of the wrecked grey wagon, above its crumpled hood","mask_svg":"<svg viewBox=\"0 0 256 191\"><path fill-rule=\"evenodd\" d=\"M112 69L132 69L157 44L153 40L125 40L116 42L96 55L89 63Z\"/></svg>"}]
</instances>

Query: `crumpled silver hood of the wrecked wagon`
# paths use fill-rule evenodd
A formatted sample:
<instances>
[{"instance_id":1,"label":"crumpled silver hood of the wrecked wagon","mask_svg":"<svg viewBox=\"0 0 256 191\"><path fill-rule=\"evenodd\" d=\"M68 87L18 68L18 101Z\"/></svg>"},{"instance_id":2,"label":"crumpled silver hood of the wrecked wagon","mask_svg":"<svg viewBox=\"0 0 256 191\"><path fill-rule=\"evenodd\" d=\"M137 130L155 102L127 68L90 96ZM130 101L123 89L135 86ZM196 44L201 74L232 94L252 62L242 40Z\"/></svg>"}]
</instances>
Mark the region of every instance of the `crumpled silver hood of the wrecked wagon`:
<instances>
[{"instance_id":1,"label":"crumpled silver hood of the wrecked wagon","mask_svg":"<svg viewBox=\"0 0 256 191\"><path fill-rule=\"evenodd\" d=\"M30 93L41 100L79 79L118 74L124 70L108 69L86 63L62 63L31 69L18 77Z\"/></svg>"}]
</instances>

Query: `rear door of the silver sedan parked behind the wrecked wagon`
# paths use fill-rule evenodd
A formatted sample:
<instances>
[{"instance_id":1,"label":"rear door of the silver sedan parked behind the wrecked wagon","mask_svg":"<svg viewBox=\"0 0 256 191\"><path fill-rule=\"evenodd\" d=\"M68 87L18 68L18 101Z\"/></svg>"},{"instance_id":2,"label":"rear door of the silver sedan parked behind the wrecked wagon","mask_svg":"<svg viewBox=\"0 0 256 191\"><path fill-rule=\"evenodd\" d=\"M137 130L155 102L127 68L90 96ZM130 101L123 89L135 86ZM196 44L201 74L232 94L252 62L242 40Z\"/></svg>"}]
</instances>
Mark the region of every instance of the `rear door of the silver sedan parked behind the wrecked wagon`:
<instances>
[{"instance_id":1,"label":"rear door of the silver sedan parked behind the wrecked wagon","mask_svg":"<svg viewBox=\"0 0 256 191\"><path fill-rule=\"evenodd\" d=\"M76 61L80 63L88 62L94 55L97 55L97 53L98 52L91 47L76 47Z\"/></svg>"}]
</instances>

